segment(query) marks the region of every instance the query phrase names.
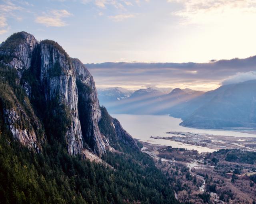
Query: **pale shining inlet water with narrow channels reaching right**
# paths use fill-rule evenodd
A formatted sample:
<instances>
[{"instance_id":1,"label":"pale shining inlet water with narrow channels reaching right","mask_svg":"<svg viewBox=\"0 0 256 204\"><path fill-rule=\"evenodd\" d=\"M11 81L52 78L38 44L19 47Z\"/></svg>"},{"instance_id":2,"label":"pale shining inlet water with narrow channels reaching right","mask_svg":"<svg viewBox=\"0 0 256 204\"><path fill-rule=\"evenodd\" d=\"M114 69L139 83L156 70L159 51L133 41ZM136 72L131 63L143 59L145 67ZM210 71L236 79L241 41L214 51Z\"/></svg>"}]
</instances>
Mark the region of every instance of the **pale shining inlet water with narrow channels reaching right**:
<instances>
[{"instance_id":1,"label":"pale shining inlet water with narrow channels reaching right","mask_svg":"<svg viewBox=\"0 0 256 204\"><path fill-rule=\"evenodd\" d=\"M195 129L179 126L182 120L178 118L169 117L168 115L129 115L129 114L114 114L122 124L123 128L128 131L134 138L149 143L170 145L172 147L183 147L187 149L196 149L198 152L212 152L213 149L207 147L200 147L196 145L189 145L185 143L165 140L165 139L152 139L150 136L168 136L165 132L168 131L185 131L192 133L208 133L213 135L226 135L236 137L256 137L256 134L248 134L244 132L232 130L215 130L215 129Z\"/></svg>"}]
</instances>

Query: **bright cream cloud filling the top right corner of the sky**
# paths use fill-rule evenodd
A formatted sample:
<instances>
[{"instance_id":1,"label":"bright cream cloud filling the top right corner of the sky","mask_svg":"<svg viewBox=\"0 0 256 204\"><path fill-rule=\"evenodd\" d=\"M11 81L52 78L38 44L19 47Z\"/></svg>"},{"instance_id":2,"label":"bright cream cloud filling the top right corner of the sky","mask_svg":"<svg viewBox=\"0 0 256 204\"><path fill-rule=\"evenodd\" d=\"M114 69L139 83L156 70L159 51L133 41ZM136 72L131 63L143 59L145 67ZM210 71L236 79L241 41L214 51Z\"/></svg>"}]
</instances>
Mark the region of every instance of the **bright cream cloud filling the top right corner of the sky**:
<instances>
[{"instance_id":1,"label":"bright cream cloud filling the top right corner of the sky","mask_svg":"<svg viewBox=\"0 0 256 204\"><path fill-rule=\"evenodd\" d=\"M167 0L167 2L182 4L183 8L172 14L182 17L184 24L236 23L236 20L242 21L252 18L252 14L256 15L255 0Z\"/></svg>"}]
</instances>

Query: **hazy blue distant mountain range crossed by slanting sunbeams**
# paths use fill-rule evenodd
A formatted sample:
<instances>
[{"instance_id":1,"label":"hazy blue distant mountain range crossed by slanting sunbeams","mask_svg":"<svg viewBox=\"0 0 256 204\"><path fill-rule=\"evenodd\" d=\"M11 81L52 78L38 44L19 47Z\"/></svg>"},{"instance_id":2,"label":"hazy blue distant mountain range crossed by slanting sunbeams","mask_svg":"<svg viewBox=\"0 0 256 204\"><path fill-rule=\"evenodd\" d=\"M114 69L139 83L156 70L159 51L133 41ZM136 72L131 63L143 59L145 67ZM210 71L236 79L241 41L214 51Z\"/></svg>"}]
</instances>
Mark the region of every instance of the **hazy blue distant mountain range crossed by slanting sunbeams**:
<instances>
[{"instance_id":1,"label":"hazy blue distant mountain range crossed by slanting sunbeams","mask_svg":"<svg viewBox=\"0 0 256 204\"><path fill-rule=\"evenodd\" d=\"M118 87L98 89L100 104L106 106L111 113L123 114L166 114L172 106L200 96L204 92L188 88L182 90L150 87L130 93L131 90Z\"/></svg>"}]
</instances>

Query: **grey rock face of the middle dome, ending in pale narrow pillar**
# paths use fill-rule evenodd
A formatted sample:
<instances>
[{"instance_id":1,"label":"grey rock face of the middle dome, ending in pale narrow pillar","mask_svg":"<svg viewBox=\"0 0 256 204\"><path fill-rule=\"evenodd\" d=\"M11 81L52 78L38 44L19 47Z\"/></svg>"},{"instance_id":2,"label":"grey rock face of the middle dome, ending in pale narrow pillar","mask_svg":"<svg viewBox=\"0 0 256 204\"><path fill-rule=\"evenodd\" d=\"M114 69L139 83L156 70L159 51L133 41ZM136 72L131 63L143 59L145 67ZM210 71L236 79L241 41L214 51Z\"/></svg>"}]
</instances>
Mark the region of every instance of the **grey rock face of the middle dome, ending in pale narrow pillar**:
<instances>
[{"instance_id":1,"label":"grey rock face of the middle dome, ending in pale narrow pillar","mask_svg":"<svg viewBox=\"0 0 256 204\"><path fill-rule=\"evenodd\" d=\"M58 97L61 103L68 106L72 121L65 135L68 152L70 154L81 153L83 143L78 119L78 90L74 66L65 51L53 41L42 41L40 53L40 84L46 102Z\"/></svg>"}]
</instances>

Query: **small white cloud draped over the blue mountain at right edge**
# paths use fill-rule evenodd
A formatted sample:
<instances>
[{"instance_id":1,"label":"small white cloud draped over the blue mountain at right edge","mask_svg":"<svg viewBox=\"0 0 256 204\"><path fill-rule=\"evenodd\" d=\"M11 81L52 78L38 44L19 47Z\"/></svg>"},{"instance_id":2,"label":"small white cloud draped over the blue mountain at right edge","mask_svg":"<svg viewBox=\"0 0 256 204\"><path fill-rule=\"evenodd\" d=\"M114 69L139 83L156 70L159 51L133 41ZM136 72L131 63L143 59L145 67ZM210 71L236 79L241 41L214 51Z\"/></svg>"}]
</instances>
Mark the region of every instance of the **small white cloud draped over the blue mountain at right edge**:
<instances>
[{"instance_id":1,"label":"small white cloud draped over the blue mountain at right edge","mask_svg":"<svg viewBox=\"0 0 256 204\"><path fill-rule=\"evenodd\" d=\"M249 72L238 72L233 76L228 77L222 82L222 85L228 84L236 84L240 82L245 82L249 80L256 80L256 71L249 71Z\"/></svg>"}]
</instances>

